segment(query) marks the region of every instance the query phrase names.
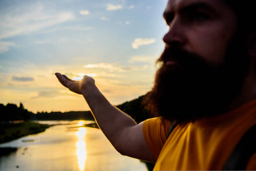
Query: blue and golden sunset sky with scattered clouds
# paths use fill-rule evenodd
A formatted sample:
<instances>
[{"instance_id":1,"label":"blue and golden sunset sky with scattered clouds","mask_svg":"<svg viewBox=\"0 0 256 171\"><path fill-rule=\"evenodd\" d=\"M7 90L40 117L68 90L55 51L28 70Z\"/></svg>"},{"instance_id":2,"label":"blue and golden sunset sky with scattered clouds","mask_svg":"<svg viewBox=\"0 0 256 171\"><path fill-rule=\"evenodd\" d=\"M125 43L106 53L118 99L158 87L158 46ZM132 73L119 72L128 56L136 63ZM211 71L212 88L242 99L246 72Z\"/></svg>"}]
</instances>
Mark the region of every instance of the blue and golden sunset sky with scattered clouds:
<instances>
[{"instance_id":1,"label":"blue and golden sunset sky with scattered clouds","mask_svg":"<svg viewBox=\"0 0 256 171\"><path fill-rule=\"evenodd\" d=\"M151 90L167 0L0 0L0 103L87 111L55 72L92 76L113 105Z\"/></svg>"}]
</instances>

